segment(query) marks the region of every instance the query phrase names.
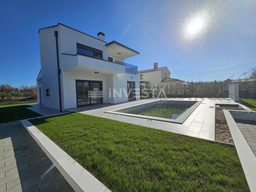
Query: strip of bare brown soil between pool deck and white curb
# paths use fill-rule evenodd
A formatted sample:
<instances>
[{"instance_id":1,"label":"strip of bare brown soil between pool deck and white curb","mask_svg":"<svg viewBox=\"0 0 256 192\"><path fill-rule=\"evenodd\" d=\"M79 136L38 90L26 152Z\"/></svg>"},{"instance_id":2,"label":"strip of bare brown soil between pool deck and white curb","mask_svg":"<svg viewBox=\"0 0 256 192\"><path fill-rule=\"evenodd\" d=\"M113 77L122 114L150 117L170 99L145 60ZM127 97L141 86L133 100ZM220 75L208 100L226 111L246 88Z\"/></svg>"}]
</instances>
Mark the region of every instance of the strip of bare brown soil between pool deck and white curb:
<instances>
[{"instance_id":1,"label":"strip of bare brown soil between pool deck and white curb","mask_svg":"<svg viewBox=\"0 0 256 192\"><path fill-rule=\"evenodd\" d=\"M234 144L224 112L218 108L215 108L215 140Z\"/></svg>"}]
</instances>

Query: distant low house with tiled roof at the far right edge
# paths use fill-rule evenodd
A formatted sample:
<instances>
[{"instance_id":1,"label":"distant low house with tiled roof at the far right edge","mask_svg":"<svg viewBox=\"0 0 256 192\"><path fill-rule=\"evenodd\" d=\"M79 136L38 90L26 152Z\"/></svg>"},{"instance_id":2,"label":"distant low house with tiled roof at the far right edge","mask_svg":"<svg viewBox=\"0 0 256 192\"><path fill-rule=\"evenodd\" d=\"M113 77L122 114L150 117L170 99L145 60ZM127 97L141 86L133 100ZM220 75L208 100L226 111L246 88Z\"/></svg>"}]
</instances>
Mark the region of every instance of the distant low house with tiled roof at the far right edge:
<instances>
[{"instance_id":1,"label":"distant low house with tiled roof at the far right edge","mask_svg":"<svg viewBox=\"0 0 256 192\"><path fill-rule=\"evenodd\" d=\"M232 83L238 83L239 89L255 89L256 88L256 78L252 79L226 79L225 82L225 89L228 90L228 85Z\"/></svg>"}]
</instances>

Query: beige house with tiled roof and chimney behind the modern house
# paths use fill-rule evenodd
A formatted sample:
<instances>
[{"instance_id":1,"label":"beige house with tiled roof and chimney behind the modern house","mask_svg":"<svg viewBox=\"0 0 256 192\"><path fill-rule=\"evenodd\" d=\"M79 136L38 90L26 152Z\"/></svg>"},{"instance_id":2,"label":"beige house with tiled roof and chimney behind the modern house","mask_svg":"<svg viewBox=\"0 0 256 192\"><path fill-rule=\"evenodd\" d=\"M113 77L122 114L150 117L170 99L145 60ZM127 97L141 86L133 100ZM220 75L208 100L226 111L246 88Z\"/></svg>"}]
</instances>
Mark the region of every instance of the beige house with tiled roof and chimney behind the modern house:
<instances>
[{"instance_id":1,"label":"beige house with tiled roof and chimney behind the modern house","mask_svg":"<svg viewBox=\"0 0 256 192\"><path fill-rule=\"evenodd\" d=\"M172 94L175 94L178 89L178 94L184 93L188 84L182 80L170 78L171 72L167 67L159 67L158 63L154 63L153 69L138 71L138 75L140 77L140 88L156 88L157 86L162 86L162 88L166 88L168 86L170 94L170 87L172 89Z\"/></svg>"}]
</instances>

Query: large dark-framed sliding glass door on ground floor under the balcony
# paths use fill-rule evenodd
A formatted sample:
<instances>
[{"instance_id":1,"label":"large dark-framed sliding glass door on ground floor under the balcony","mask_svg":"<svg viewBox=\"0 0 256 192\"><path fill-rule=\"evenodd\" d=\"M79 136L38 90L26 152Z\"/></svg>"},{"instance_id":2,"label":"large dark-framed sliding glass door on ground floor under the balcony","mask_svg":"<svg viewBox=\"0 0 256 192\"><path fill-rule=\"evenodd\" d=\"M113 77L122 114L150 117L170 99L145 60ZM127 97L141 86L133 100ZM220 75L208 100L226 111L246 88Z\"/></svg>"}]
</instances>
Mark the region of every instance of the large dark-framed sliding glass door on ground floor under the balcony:
<instances>
[{"instance_id":1,"label":"large dark-framed sliding glass door on ground floor under the balcony","mask_svg":"<svg viewBox=\"0 0 256 192\"><path fill-rule=\"evenodd\" d=\"M102 81L76 80L77 107L102 103Z\"/></svg>"}]
</instances>

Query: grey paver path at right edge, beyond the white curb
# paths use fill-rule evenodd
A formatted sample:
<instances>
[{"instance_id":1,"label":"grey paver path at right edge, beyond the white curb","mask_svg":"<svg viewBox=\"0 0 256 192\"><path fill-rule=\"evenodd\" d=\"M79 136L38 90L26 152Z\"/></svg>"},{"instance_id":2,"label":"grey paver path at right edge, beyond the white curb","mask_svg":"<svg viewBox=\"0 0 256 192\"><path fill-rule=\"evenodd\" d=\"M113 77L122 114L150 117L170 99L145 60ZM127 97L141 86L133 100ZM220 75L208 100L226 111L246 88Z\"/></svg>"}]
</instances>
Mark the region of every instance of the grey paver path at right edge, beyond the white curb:
<instances>
[{"instance_id":1,"label":"grey paver path at right edge, beyond the white curb","mask_svg":"<svg viewBox=\"0 0 256 192\"><path fill-rule=\"evenodd\" d=\"M256 155L256 121L238 119L236 119L235 121L242 134L244 135L244 138L248 142L250 148Z\"/></svg>"}]
</instances>

